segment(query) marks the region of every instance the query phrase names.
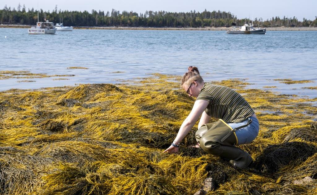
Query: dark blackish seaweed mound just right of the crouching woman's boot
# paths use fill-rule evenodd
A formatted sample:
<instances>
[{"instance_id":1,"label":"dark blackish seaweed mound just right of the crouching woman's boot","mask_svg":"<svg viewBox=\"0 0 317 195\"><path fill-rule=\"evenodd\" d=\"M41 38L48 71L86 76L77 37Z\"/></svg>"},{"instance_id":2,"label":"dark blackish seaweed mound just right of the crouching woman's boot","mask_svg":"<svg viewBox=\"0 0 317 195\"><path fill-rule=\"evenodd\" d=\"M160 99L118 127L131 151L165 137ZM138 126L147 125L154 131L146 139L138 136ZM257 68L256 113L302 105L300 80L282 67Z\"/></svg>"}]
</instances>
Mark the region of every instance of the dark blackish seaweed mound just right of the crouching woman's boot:
<instances>
[{"instance_id":1,"label":"dark blackish seaweed mound just right of the crouching woman's boot","mask_svg":"<svg viewBox=\"0 0 317 195\"><path fill-rule=\"evenodd\" d=\"M294 168L316 152L315 145L305 142L270 145L256 158L254 166L265 173L275 173L285 166Z\"/></svg>"}]
</instances>

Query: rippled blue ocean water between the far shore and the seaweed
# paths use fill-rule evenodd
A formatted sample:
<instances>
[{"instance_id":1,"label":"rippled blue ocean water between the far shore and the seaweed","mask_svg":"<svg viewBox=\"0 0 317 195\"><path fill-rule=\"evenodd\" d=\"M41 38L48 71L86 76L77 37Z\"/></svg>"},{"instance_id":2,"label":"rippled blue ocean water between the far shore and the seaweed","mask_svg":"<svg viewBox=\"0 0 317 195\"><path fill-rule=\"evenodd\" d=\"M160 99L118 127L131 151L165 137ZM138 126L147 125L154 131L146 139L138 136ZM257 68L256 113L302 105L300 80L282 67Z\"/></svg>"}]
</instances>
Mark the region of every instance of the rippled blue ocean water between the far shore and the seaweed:
<instances>
[{"instance_id":1,"label":"rippled blue ocean water between the far shore and the seaweed","mask_svg":"<svg viewBox=\"0 0 317 195\"><path fill-rule=\"evenodd\" d=\"M87 83L127 83L151 73L183 75L197 66L205 81L248 79L250 88L277 86L281 94L317 97L317 31L267 31L229 35L196 30L73 30L29 35L0 28L0 71L30 71L56 77L0 80L0 91ZM68 69L82 66L88 69ZM282 84L274 79L313 80ZM125 82L126 81L126 82Z\"/></svg>"}]
</instances>

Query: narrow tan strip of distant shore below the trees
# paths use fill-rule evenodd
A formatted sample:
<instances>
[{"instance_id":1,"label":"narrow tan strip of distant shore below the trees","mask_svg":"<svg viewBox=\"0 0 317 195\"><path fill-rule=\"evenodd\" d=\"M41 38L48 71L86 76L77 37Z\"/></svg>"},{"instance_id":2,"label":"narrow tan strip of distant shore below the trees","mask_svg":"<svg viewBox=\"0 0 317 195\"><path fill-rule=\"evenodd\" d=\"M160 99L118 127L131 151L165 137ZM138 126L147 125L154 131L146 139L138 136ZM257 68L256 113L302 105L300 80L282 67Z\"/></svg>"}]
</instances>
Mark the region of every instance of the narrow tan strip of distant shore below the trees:
<instances>
[{"instance_id":1,"label":"narrow tan strip of distant shore below the trees","mask_svg":"<svg viewBox=\"0 0 317 195\"><path fill-rule=\"evenodd\" d=\"M0 24L0 28L31 28L30 25ZM74 29L91 30L231 30L231 27L117 27L117 26L75 26ZM317 27L267 27L266 30L317 30Z\"/></svg>"}]
</instances>

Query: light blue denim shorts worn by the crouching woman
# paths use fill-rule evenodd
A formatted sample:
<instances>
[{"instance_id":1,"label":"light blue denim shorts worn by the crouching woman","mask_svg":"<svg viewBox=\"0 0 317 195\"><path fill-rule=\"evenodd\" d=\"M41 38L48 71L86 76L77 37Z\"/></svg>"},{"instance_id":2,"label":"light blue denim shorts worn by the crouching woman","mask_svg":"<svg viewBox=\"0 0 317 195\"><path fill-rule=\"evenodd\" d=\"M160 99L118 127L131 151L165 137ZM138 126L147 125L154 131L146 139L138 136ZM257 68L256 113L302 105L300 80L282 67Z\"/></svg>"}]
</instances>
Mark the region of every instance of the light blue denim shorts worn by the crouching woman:
<instances>
[{"instance_id":1,"label":"light blue denim shorts worn by the crouching woman","mask_svg":"<svg viewBox=\"0 0 317 195\"><path fill-rule=\"evenodd\" d=\"M255 117L249 117L249 118L252 119L252 123L236 131L236 136L238 138L238 143L236 145L248 144L252 142L259 133L258 119ZM228 123L228 124L232 129L234 129L236 127L245 125L247 123L248 123L248 118L240 123Z\"/></svg>"}]
</instances>

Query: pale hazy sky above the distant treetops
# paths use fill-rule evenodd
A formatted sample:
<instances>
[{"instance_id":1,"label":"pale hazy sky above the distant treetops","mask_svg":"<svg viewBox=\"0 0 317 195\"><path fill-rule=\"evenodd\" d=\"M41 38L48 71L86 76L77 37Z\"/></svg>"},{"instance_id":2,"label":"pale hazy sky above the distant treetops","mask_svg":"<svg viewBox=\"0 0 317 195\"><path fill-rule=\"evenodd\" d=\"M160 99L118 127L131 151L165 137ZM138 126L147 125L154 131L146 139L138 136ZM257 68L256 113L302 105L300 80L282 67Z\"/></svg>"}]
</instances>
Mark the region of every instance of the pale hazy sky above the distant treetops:
<instances>
[{"instance_id":1,"label":"pale hazy sky above the distant treetops","mask_svg":"<svg viewBox=\"0 0 317 195\"><path fill-rule=\"evenodd\" d=\"M89 1L74 1L74 0L55 0L55 1L37 1L37 0L0 0L2 8L7 5L11 8L17 7L21 3L25 7L45 11L52 11L57 4L58 10L101 10L110 11L126 10L134 11L137 13L144 13L146 10L153 11L171 11L171 12L189 12L196 10L199 12L207 9L208 11L220 10L230 11L238 18L260 18L263 20L272 18L273 16L279 17L297 17L302 20L303 17L314 20L317 16L317 0L89 0ZM1 9L2 9L1 8Z\"/></svg>"}]
</instances>

